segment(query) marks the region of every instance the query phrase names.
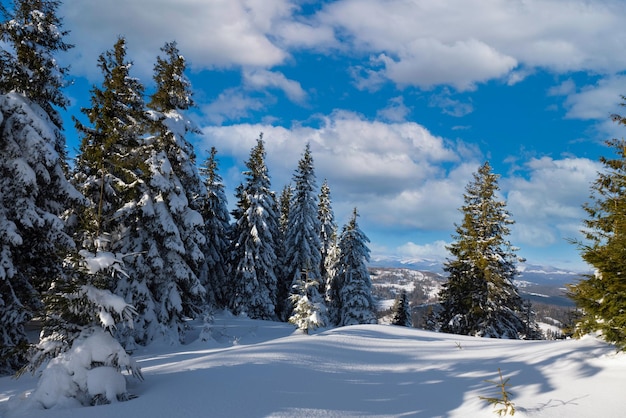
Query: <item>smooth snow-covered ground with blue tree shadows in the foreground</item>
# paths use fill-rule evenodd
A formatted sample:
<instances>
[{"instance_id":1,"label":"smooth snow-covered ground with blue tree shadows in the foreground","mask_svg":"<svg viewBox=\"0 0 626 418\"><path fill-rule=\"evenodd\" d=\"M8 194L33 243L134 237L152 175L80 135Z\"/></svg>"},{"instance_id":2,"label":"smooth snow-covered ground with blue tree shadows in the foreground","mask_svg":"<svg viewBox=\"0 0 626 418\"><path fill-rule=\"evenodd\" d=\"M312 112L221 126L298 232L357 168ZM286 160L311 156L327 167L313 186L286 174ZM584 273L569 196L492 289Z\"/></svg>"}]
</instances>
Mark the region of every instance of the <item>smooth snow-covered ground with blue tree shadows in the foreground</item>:
<instances>
[{"instance_id":1,"label":"smooth snow-covered ground with blue tree shadows in the foreground","mask_svg":"<svg viewBox=\"0 0 626 418\"><path fill-rule=\"evenodd\" d=\"M138 397L36 409L32 376L0 379L0 417L489 417L485 382L509 378L515 417L621 417L626 355L596 338L510 341L360 325L303 335L286 323L219 315L180 347L134 354ZM194 341L195 339L195 341Z\"/></svg>"}]
</instances>

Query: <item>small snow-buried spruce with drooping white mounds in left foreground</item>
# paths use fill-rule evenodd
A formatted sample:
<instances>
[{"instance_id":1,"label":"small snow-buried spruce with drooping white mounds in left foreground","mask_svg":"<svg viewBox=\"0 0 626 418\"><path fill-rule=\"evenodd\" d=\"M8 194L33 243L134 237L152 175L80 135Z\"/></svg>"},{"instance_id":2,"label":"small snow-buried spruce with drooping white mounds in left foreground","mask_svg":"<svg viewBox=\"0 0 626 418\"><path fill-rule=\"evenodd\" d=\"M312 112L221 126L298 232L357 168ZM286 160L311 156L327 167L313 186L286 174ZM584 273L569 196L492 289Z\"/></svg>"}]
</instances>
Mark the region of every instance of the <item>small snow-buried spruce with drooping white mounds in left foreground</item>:
<instances>
[{"instance_id":1,"label":"small snow-buried spruce with drooping white mounds in left foreground","mask_svg":"<svg viewBox=\"0 0 626 418\"><path fill-rule=\"evenodd\" d=\"M123 261L106 251L80 252L70 273L46 294L46 326L21 373L41 371L28 401L40 408L128 400L128 372L139 366L113 337L116 325L133 326L135 309L100 283L124 275ZM113 277L106 277L113 276Z\"/></svg>"}]
</instances>

